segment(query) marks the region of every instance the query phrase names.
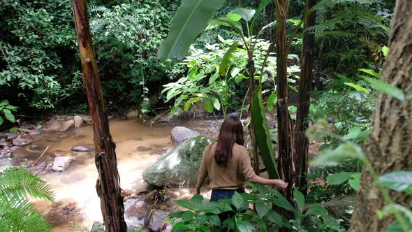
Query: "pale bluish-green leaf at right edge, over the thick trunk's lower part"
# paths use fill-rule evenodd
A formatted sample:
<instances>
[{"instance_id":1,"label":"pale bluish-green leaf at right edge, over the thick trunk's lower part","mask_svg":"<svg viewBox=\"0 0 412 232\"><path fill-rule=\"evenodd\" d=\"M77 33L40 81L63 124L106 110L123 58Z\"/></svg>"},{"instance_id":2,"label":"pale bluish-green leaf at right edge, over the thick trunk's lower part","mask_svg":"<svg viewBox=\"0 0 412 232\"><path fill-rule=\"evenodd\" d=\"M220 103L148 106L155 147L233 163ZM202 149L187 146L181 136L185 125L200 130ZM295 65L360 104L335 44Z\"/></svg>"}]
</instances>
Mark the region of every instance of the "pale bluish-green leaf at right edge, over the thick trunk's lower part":
<instances>
[{"instance_id":1,"label":"pale bluish-green leaf at right edge, over the thick trunk's lower part","mask_svg":"<svg viewBox=\"0 0 412 232\"><path fill-rule=\"evenodd\" d=\"M379 178L379 184L395 191L412 194L412 171L386 173Z\"/></svg>"}]
</instances>

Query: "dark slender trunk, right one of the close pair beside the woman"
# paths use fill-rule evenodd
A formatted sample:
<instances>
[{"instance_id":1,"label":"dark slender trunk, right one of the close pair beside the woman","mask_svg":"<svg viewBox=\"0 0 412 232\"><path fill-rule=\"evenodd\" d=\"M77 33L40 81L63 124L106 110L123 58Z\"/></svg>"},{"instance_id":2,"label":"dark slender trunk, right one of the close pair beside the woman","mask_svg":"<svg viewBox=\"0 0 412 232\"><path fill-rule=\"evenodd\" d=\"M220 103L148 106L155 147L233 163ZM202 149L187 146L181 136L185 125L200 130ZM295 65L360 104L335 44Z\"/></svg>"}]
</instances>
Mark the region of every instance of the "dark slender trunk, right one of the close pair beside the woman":
<instances>
[{"instance_id":1,"label":"dark slender trunk, right one of the close pair beside the woman","mask_svg":"<svg viewBox=\"0 0 412 232\"><path fill-rule=\"evenodd\" d=\"M305 13L317 0L306 0ZM302 45L302 67L300 71L299 96L297 99L297 114L295 126L295 159L296 159L296 186L300 187L303 194L307 194L307 180L304 173L307 173L307 157L309 153L309 139L305 136L308 126L307 117L309 115L310 90L312 82L312 68L314 64L314 44L315 34L308 33L306 29L314 26L316 13L312 13L304 22L303 45Z\"/></svg>"}]
</instances>

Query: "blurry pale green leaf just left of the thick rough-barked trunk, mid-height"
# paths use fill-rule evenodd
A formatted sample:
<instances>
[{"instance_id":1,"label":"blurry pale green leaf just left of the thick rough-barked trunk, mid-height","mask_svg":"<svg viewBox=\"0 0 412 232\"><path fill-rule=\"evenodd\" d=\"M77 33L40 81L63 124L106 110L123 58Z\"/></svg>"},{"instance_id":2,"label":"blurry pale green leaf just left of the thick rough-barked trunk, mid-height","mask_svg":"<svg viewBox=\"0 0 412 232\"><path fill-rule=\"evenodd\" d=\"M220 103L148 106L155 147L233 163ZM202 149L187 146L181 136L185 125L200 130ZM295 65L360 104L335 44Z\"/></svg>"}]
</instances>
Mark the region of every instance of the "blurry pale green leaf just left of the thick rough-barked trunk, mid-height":
<instances>
[{"instance_id":1,"label":"blurry pale green leaf just left of the thick rough-barked trunk, mid-height","mask_svg":"<svg viewBox=\"0 0 412 232\"><path fill-rule=\"evenodd\" d=\"M311 161L311 164L313 166L330 166L348 159L365 159L365 156L358 145L344 143L335 150L325 150Z\"/></svg>"}]
</instances>

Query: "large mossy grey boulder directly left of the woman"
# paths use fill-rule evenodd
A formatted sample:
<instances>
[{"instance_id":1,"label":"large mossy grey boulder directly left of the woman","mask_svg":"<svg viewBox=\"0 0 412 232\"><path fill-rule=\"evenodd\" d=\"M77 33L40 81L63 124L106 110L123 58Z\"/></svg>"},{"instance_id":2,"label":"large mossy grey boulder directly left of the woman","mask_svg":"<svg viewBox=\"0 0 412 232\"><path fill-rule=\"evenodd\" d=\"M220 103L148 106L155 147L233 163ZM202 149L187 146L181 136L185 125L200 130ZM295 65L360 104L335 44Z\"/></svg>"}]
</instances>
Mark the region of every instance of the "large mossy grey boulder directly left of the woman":
<instances>
[{"instance_id":1,"label":"large mossy grey boulder directly left of the woman","mask_svg":"<svg viewBox=\"0 0 412 232\"><path fill-rule=\"evenodd\" d=\"M203 151L213 142L212 138L189 138L146 168L143 180L159 187L196 184Z\"/></svg>"}]
</instances>

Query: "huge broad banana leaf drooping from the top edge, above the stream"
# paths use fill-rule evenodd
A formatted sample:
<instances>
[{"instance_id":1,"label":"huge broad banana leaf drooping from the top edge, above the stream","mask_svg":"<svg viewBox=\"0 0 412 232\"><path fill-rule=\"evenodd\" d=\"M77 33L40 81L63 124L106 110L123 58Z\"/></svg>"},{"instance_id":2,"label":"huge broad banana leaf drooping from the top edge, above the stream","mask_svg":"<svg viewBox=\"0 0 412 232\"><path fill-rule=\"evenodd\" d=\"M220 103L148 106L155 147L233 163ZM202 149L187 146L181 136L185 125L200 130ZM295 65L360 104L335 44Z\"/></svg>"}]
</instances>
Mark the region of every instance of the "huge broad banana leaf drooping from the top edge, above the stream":
<instances>
[{"instance_id":1,"label":"huge broad banana leaf drooping from the top edge, above the stream","mask_svg":"<svg viewBox=\"0 0 412 232\"><path fill-rule=\"evenodd\" d=\"M182 0L170 25L168 38L161 43L159 58L182 59L193 40L205 29L215 10L226 0Z\"/></svg>"}]
</instances>

